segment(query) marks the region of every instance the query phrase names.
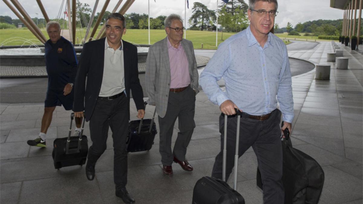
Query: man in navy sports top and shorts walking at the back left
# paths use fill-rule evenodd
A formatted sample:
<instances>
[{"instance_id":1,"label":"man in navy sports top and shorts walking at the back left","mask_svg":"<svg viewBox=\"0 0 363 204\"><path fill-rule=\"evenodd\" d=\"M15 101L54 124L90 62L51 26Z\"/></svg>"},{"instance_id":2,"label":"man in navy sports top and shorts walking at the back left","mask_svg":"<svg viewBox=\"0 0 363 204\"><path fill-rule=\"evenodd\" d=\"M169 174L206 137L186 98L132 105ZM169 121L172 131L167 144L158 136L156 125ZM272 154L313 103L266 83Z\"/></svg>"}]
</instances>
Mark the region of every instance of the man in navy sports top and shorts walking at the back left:
<instances>
[{"instance_id":1,"label":"man in navy sports top and shorts walking at the back left","mask_svg":"<svg viewBox=\"0 0 363 204\"><path fill-rule=\"evenodd\" d=\"M48 73L48 90L45 98L44 114L40 134L28 140L30 146L45 147L46 132L52 122L56 106L65 110L73 108L73 84L77 74L77 57L71 42L61 36L58 22L50 21L46 27L49 40L45 43L45 64ZM82 118L76 118L75 135L81 132Z\"/></svg>"}]
</instances>

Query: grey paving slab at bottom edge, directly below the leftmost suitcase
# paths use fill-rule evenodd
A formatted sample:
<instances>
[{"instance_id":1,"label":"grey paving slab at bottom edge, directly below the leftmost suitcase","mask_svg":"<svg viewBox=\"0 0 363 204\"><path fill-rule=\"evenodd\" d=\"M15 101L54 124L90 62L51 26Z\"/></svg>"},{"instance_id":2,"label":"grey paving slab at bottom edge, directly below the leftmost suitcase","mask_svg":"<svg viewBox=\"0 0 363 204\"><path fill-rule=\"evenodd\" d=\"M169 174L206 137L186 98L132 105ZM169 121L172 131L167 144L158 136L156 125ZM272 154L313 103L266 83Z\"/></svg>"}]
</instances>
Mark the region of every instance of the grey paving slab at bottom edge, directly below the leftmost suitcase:
<instances>
[{"instance_id":1,"label":"grey paving slab at bottom edge, directly below the leftmost suitcase","mask_svg":"<svg viewBox=\"0 0 363 204\"><path fill-rule=\"evenodd\" d=\"M65 177L24 181L19 203L38 203L41 192L42 203L103 203L96 182L86 176Z\"/></svg>"}]
</instances>

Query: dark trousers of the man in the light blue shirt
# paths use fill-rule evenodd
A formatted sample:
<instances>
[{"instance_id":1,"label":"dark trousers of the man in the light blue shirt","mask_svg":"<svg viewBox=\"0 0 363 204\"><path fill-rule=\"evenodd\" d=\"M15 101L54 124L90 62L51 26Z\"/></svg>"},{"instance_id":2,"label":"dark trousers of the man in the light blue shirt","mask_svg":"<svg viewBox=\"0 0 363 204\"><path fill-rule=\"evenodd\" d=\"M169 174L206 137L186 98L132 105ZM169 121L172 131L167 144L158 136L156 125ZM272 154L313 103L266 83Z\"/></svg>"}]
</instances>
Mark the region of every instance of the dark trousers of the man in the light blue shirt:
<instances>
[{"instance_id":1,"label":"dark trousers of the man in the light blue shirt","mask_svg":"<svg viewBox=\"0 0 363 204\"><path fill-rule=\"evenodd\" d=\"M264 184L264 203L284 203L284 187L282 185L282 146L281 146L281 111L274 110L265 121L250 119L242 115L240 122L240 144L238 155L241 157L250 146L257 156L258 168ZM221 151L216 156L212 177L222 179L224 114L219 118L221 133ZM237 117L227 120L227 164L226 179L234 167L236 152Z\"/></svg>"}]
</instances>

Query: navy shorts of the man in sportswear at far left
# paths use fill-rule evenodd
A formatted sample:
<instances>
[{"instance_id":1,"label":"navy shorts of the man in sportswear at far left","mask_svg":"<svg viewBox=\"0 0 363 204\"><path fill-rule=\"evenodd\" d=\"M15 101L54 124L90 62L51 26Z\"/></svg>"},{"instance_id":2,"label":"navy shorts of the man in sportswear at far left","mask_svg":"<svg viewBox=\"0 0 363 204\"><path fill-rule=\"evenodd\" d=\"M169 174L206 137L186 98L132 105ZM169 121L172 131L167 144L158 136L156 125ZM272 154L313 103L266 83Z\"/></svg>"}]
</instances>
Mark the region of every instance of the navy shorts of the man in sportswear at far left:
<instances>
[{"instance_id":1,"label":"navy shorts of the man in sportswear at far left","mask_svg":"<svg viewBox=\"0 0 363 204\"><path fill-rule=\"evenodd\" d=\"M72 110L73 108L73 89L68 95L63 95L63 91L50 90L46 92L45 107L54 107L63 105L64 109Z\"/></svg>"}]
</instances>

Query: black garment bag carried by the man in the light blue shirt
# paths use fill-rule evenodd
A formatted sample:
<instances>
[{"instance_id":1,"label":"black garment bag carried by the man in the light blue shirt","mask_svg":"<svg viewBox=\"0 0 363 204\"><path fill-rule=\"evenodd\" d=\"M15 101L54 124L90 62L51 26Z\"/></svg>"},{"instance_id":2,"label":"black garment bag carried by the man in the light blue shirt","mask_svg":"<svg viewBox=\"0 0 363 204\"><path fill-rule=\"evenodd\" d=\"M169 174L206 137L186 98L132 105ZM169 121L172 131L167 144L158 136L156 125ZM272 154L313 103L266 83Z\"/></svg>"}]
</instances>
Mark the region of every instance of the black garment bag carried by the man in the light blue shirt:
<instances>
[{"instance_id":1,"label":"black garment bag carried by the man in the light blue shirt","mask_svg":"<svg viewBox=\"0 0 363 204\"><path fill-rule=\"evenodd\" d=\"M284 124L282 122L281 126ZM282 139L282 183L285 204L317 204L323 189L324 171L311 156L292 147L289 130ZM261 173L257 168L257 186L262 189Z\"/></svg>"}]
</instances>

